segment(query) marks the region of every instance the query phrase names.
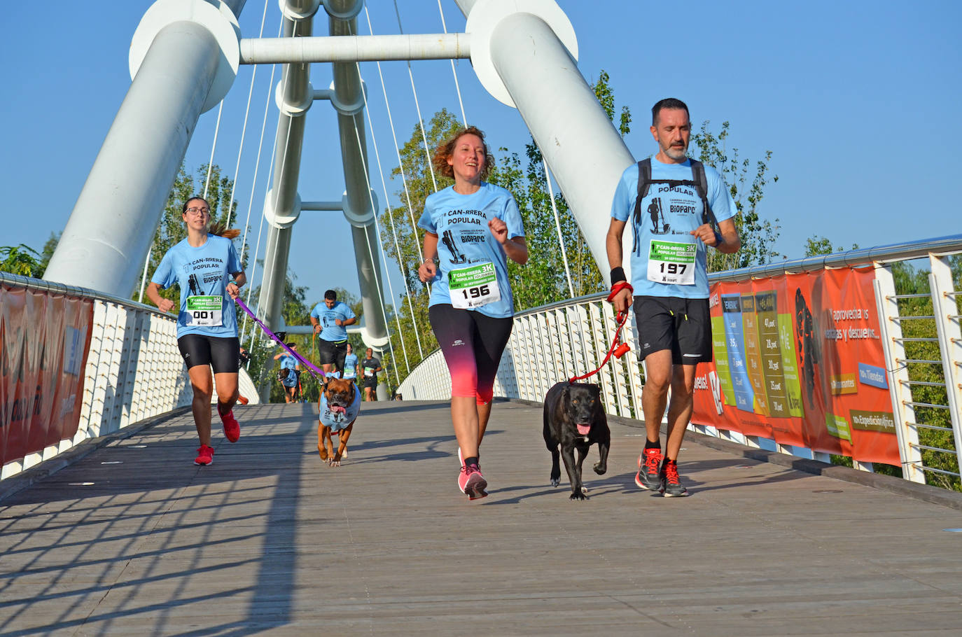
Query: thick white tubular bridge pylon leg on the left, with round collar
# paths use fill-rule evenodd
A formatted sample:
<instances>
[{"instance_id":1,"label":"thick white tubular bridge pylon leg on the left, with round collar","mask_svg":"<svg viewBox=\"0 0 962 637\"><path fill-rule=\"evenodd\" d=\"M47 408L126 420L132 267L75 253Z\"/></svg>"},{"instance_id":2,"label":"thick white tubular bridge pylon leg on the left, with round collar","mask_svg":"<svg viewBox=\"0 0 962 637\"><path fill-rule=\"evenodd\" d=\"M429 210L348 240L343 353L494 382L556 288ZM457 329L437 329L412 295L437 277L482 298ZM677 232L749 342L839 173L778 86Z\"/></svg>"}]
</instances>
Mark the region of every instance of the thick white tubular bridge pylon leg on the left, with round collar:
<instances>
[{"instance_id":1,"label":"thick white tubular bridge pylon leg on the left, with round collar","mask_svg":"<svg viewBox=\"0 0 962 637\"><path fill-rule=\"evenodd\" d=\"M242 1L159 0L130 49L133 82L45 272L129 296L197 120L237 76ZM235 9L230 13L229 9Z\"/></svg>"}]
</instances>

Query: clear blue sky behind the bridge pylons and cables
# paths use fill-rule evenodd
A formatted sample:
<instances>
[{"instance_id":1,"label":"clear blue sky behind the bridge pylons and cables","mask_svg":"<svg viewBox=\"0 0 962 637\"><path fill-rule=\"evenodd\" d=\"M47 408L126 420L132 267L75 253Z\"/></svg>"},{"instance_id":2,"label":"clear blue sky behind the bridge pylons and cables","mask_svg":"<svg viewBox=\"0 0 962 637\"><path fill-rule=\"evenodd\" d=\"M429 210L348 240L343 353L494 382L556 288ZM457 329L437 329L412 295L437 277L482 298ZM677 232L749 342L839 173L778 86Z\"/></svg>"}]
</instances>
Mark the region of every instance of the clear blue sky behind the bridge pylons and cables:
<instances>
[{"instance_id":1,"label":"clear blue sky behind the bridge pylons and cables","mask_svg":"<svg viewBox=\"0 0 962 637\"><path fill-rule=\"evenodd\" d=\"M13 201L2 213L0 245L26 243L39 250L52 231L63 229L130 86L127 52L150 4L56 0L44 5L42 15L33 3L5 7L0 187ZM729 145L741 157L754 161L772 150L770 168L779 180L768 187L759 212L778 219L776 249L787 257L801 256L805 239L815 234L846 247L867 247L960 232L962 3L558 4L574 26L582 74L593 81L606 70L619 106L632 109L626 142L636 157L654 149L649 109L665 96L685 100L696 125L707 119L717 130L729 121ZM436 0L397 5L405 33L442 31ZM398 33L392 0L370 0L367 6L375 34ZM448 31L463 31L457 6L451 0L442 6ZM264 11L264 0L248 0L242 37L257 37ZM267 0L265 36L277 34L279 19L277 0ZM318 20L316 35L326 28L326 20ZM367 35L364 13L360 30ZM417 121L407 66L381 66L395 133L403 142ZM494 146L521 152L528 138L518 113L488 95L468 61L456 68L468 121L484 129ZM252 72L241 66L224 102L215 163L228 173L237 163ZM362 64L362 74L373 123L368 143L376 141L389 179L394 146L376 65ZM460 112L448 62L413 63L413 75L425 118L445 107ZM237 174L241 219L254 202L252 244L276 125L271 102L255 183L269 76L269 66L258 68ZM316 88L330 80L329 66L313 67ZM335 116L326 103L316 103L308 117L301 198L340 198ZM208 161L215 119L216 109L201 117L186 158L191 170ZM371 181L383 203L372 145L370 158ZM388 180L390 193L399 188ZM18 207L21 199L30 202L29 210ZM351 245L350 232L340 213L305 212L294 227L291 271L310 289L310 300L330 287L357 292L352 255L344 247ZM263 255L264 240L261 245ZM402 292L398 285L395 279L393 294L386 292L396 297Z\"/></svg>"}]
</instances>

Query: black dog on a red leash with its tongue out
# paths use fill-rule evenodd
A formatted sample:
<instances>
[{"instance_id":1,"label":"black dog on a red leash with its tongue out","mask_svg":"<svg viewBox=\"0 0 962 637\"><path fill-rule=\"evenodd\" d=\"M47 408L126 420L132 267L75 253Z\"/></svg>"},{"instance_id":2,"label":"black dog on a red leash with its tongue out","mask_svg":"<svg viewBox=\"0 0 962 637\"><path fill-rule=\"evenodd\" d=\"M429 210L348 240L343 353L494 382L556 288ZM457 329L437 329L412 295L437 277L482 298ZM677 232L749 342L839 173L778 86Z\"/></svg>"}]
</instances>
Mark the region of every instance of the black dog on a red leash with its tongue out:
<instances>
[{"instance_id":1,"label":"black dog on a red leash with its tongue out","mask_svg":"<svg viewBox=\"0 0 962 637\"><path fill-rule=\"evenodd\" d=\"M598 461L595 473L608 471L608 447L611 430L608 417L601 409L601 392L597 385L561 382L544 396L544 445L551 452L551 486L561 483L558 465L558 446L565 458L565 470L571 482L571 499L585 499L587 489L581 483L581 463L588 455L588 447L597 444ZM578 461L574 462L574 449Z\"/></svg>"}]
</instances>

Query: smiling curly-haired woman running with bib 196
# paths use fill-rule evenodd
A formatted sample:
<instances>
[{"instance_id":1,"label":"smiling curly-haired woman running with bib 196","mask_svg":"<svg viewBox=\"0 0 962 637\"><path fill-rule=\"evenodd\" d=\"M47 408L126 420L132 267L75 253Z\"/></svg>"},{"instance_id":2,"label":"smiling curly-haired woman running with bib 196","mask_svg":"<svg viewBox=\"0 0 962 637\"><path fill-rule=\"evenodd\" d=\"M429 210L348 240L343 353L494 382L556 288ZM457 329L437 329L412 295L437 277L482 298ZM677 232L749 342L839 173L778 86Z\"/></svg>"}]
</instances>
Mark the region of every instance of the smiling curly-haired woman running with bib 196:
<instances>
[{"instance_id":1,"label":"smiling curly-haired woman running with bib 196","mask_svg":"<svg viewBox=\"0 0 962 637\"><path fill-rule=\"evenodd\" d=\"M477 499L488 495L479 448L514 323L507 259L523 265L528 247L515 198L484 181L492 167L484 133L473 126L457 131L435 150L433 164L454 184L424 201L418 277L432 283L428 315L451 372L458 487Z\"/></svg>"}]
</instances>

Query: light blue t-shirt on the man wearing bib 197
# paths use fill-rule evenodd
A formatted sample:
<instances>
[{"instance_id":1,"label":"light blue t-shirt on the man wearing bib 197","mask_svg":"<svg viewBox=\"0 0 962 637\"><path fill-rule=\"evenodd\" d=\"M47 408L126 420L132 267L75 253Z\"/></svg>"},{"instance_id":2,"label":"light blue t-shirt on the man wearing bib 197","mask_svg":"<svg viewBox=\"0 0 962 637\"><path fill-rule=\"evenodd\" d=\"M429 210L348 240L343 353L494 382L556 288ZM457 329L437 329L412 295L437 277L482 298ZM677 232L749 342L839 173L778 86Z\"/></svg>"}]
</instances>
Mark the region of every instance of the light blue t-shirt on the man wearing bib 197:
<instances>
[{"instance_id":1,"label":"light blue t-shirt on the man wearing bib 197","mask_svg":"<svg viewBox=\"0 0 962 637\"><path fill-rule=\"evenodd\" d=\"M685 160L684 164L662 164L654 157L651 158L651 179L671 179L676 181L692 181L692 163ZM705 178L708 181L708 203L719 221L735 216L737 209L731 198L728 187L725 186L721 175L712 166L705 165ZM635 198L638 196L638 165L632 164L621 173L621 180L611 204L611 216L620 221L628 221L632 226L632 244L623 245L622 253L627 255L630 250L631 287L636 296L676 296L680 298L708 298L708 268L705 263L706 246L691 234L701 225L701 197L695 186L682 186L652 183L648 193L642 200L641 215L630 218L635 211ZM671 244L671 245L668 245ZM652 253L667 254L666 250L685 251L683 244L693 246L695 254L694 264L685 268L695 268L692 285L677 283L662 283L649 278L648 263ZM667 245L659 248L658 245ZM676 275L681 265L671 266L665 260L655 261L654 269L671 268L671 274ZM684 258L672 257L669 261L684 261ZM683 274L683 272L682 272ZM652 276L657 276L655 272Z\"/></svg>"}]
</instances>

